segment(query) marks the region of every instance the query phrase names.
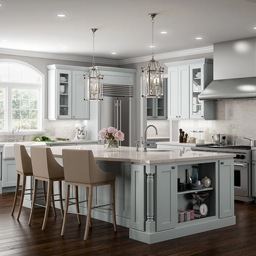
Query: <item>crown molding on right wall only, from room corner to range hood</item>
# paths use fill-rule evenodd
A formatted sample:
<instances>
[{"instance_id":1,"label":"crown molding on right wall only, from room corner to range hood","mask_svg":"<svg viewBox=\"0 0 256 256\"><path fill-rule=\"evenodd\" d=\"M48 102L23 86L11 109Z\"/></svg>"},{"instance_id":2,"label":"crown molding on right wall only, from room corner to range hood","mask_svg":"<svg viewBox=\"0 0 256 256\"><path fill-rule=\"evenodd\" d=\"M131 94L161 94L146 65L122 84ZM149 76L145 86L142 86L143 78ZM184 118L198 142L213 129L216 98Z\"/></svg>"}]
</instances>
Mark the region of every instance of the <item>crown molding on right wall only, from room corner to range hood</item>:
<instances>
[{"instance_id":1,"label":"crown molding on right wall only, from room corner to range hood","mask_svg":"<svg viewBox=\"0 0 256 256\"><path fill-rule=\"evenodd\" d=\"M190 49L190 50L183 50L183 51L157 54L157 55L154 56L154 58L157 59L157 60L165 60L166 58L184 57L184 56L189 56L189 55L198 55L198 54L210 53L210 52L213 52L213 46L207 46L207 47L201 47L201 48L194 48L194 49ZM151 58L151 55L150 56L144 56L144 57L138 57L138 58L127 58L126 60L118 61L118 63L119 63L119 65L140 63L140 62L149 61L150 58Z\"/></svg>"}]
</instances>

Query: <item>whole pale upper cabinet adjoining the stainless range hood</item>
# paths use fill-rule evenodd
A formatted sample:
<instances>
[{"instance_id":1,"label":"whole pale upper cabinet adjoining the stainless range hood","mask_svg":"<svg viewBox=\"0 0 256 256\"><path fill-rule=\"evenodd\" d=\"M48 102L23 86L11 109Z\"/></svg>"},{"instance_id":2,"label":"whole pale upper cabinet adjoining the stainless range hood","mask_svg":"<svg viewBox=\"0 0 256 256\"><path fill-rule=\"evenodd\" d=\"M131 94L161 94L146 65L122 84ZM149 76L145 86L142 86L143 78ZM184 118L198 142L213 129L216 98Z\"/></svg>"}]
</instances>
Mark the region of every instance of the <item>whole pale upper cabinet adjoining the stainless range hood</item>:
<instances>
[{"instance_id":1,"label":"whole pale upper cabinet adjoining the stainless range hood","mask_svg":"<svg viewBox=\"0 0 256 256\"><path fill-rule=\"evenodd\" d=\"M165 63L168 66L168 119L215 119L215 102L198 95L213 81L213 60Z\"/></svg>"}]
</instances>

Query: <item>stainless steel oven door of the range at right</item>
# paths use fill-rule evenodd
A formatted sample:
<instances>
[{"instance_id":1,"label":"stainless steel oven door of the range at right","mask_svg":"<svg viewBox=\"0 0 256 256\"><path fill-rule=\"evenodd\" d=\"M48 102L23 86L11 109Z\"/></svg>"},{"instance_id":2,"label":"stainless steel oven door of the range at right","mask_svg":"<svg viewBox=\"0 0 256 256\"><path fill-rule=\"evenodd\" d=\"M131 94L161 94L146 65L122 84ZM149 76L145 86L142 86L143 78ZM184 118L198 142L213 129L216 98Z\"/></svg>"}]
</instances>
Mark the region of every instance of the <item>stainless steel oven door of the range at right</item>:
<instances>
[{"instance_id":1,"label":"stainless steel oven door of the range at right","mask_svg":"<svg viewBox=\"0 0 256 256\"><path fill-rule=\"evenodd\" d=\"M238 196L248 196L248 164L234 163L234 193Z\"/></svg>"}]
</instances>

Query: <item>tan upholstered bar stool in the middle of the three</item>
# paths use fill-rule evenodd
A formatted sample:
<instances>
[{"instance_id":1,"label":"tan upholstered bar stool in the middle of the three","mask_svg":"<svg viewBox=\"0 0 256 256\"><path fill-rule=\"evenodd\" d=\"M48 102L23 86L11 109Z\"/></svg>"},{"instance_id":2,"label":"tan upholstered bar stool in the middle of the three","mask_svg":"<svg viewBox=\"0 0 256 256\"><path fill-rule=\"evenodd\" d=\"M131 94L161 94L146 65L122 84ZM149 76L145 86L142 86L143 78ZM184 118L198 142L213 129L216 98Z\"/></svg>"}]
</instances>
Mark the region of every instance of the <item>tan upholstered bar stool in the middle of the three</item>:
<instances>
[{"instance_id":1,"label":"tan upholstered bar stool in the middle of the three","mask_svg":"<svg viewBox=\"0 0 256 256\"><path fill-rule=\"evenodd\" d=\"M52 155L50 147L31 147L31 161L32 169L34 175L34 194L31 206L31 213L29 216L28 225L31 224L34 208L36 204L37 195L37 183L38 180L48 181L47 188L47 199L45 207L45 218L43 219L42 230L46 227L46 221L48 218L48 212L50 208L50 203L52 202L53 213L56 216L55 201L60 201L61 215L63 218L63 204L62 204L62 184L61 181L64 180L63 167L57 163ZM58 192L59 194L53 194L53 181L58 181ZM59 196L59 199L55 200L54 196ZM51 199L52 198L52 199Z\"/></svg>"}]
</instances>

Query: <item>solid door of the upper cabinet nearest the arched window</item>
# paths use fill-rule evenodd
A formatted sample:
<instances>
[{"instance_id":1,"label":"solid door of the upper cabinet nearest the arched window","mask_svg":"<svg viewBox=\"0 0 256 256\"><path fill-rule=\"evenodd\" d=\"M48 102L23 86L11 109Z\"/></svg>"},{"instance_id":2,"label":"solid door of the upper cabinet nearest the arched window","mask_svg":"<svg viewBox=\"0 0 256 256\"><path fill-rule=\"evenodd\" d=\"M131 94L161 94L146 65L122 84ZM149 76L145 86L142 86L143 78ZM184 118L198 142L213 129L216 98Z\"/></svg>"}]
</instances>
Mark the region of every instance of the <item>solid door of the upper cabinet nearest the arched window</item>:
<instances>
[{"instance_id":1,"label":"solid door of the upper cabinet nearest the arched window","mask_svg":"<svg viewBox=\"0 0 256 256\"><path fill-rule=\"evenodd\" d=\"M90 102L84 100L84 71L72 71L72 119L89 119Z\"/></svg>"}]
</instances>

